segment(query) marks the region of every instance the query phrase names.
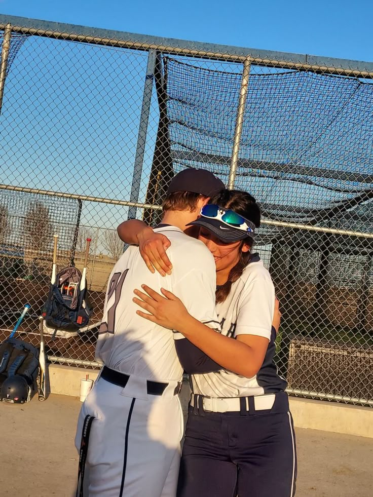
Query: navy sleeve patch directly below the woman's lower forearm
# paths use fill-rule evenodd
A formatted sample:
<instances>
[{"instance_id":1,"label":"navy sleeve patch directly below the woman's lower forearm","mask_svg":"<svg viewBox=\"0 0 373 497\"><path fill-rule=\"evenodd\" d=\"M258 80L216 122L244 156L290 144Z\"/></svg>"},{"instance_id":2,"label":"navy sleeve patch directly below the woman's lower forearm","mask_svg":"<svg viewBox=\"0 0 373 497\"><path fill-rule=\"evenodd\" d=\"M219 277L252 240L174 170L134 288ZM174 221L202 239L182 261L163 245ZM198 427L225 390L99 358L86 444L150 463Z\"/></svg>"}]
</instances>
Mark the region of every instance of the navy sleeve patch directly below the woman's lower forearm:
<instances>
[{"instance_id":1,"label":"navy sleeve patch directly below the woman's lower forearm","mask_svg":"<svg viewBox=\"0 0 373 497\"><path fill-rule=\"evenodd\" d=\"M175 347L180 364L187 374L214 373L222 369L187 338L175 340Z\"/></svg>"}]
</instances>

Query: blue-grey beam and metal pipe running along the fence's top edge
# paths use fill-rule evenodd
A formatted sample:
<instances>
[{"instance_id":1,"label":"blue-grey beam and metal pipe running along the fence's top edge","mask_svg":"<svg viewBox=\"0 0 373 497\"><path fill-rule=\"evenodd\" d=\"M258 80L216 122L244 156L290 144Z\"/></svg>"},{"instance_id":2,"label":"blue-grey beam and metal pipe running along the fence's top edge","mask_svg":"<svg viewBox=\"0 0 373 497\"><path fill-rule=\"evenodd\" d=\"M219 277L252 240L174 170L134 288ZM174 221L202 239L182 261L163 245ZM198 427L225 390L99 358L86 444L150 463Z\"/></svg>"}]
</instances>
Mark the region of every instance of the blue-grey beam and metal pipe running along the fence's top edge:
<instances>
[{"instance_id":1,"label":"blue-grey beam and metal pipe running along the fence's top edge","mask_svg":"<svg viewBox=\"0 0 373 497\"><path fill-rule=\"evenodd\" d=\"M134 50L159 50L168 54L208 57L233 62L243 62L248 58L252 64L261 66L373 79L373 62L192 42L0 14L0 29L3 30L8 24L11 25L13 32L47 36L59 40Z\"/></svg>"}]
</instances>

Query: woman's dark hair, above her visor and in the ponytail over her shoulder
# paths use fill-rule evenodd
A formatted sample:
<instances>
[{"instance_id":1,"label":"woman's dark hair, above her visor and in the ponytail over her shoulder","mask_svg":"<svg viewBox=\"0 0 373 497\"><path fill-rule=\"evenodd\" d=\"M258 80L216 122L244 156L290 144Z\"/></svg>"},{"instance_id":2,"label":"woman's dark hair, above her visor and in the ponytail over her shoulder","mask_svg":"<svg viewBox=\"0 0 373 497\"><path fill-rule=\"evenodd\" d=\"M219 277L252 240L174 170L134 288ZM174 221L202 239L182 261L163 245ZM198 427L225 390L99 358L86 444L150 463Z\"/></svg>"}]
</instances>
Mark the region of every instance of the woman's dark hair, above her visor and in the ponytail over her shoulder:
<instances>
[{"instance_id":1,"label":"woman's dark hair, above her visor and in the ponytail over her shoulder","mask_svg":"<svg viewBox=\"0 0 373 497\"><path fill-rule=\"evenodd\" d=\"M225 207L226 209L231 209L237 212L237 214L243 216L245 219L253 222L257 228L260 226L259 206L257 205L254 197L246 192L224 189L212 197L209 203L217 204L220 207ZM232 284L242 275L243 270L251 259L251 253L242 252L242 247L245 244L252 247L253 243L254 240L251 237L247 237L242 240L239 247L240 259L237 264L232 267L226 283L216 289L216 303L225 301L231 291Z\"/></svg>"}]
</instances>

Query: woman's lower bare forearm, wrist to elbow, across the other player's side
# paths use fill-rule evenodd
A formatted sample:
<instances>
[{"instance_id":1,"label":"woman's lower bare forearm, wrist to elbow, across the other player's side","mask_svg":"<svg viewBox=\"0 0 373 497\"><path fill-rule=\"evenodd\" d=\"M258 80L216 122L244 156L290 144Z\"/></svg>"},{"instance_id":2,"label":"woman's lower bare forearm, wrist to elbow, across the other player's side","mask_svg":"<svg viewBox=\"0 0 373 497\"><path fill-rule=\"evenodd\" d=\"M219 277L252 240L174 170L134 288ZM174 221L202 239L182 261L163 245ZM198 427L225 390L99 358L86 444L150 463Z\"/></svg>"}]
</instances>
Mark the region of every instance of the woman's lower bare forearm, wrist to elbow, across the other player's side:
<instances>
[{"instance_id":1,"label":"woman's lower bare forearm, wrist to elbow, across the other player's side","mask_svg":"<svg viewBox=\"0 0 373 497\"><path fill-rule=\"evenodd\" d=\"M222 335L192 316L177 330L222 368L248 378L257 373L255 352L239 340Z\"/></svg>"}]
</instances>

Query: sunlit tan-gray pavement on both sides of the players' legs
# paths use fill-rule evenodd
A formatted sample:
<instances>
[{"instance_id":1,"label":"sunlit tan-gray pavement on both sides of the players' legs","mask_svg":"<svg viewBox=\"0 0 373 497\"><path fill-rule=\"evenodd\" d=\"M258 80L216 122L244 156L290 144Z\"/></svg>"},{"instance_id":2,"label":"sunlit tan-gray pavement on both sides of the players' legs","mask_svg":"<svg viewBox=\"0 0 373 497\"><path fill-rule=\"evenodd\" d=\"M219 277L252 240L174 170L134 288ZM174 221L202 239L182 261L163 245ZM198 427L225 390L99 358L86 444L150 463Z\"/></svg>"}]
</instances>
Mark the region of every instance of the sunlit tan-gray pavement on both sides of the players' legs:
<instances>
[{"instance_id":1,"label":"sunlit tan-gray pavement on both sides of the players' legs","mask_svg":"<svg viewBox=\"0 0 373 497\"><path fill-rule=\"evenodd\" d=\"M75 495L80 406L79 399L58 395L45 402L36 396L24 405L0 403L1 497ZM296 439L297 497L372 495L372 439L303 429Z\"/></svg>"}]
</instances>

